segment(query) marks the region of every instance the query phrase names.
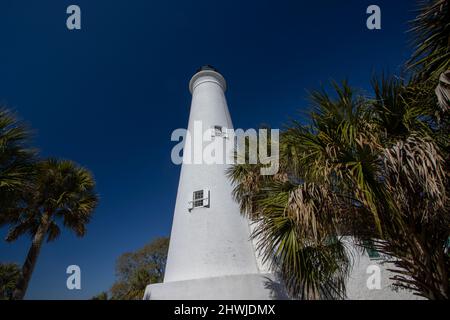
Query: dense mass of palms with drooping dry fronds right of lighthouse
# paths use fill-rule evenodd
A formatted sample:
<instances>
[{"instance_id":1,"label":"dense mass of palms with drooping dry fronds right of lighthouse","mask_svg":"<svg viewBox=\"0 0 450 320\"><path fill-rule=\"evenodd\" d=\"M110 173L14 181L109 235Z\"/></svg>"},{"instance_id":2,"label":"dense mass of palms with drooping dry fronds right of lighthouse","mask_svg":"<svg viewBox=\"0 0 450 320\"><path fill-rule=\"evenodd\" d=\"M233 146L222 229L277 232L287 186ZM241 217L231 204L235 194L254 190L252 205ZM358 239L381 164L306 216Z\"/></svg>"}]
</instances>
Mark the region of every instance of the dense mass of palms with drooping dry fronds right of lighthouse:
<instances>
[{"instance_id":1,"label":"dense mass of palms with drooping dry fronds right of lighthouse","mask_svg":"<svg viewBox=\"0 0 450 320\"><path fill-rule=\"evenodd\" d=\"M396 79L374 81L372 99L346 82L333 87L336 98L311 94L311 124L282 133L277 175L248 164L229 171L260 249L293 296L345 296L349 236L392 257L399 287L448 299L448 164L435 100Z\"/></svg>"}]
</instances>

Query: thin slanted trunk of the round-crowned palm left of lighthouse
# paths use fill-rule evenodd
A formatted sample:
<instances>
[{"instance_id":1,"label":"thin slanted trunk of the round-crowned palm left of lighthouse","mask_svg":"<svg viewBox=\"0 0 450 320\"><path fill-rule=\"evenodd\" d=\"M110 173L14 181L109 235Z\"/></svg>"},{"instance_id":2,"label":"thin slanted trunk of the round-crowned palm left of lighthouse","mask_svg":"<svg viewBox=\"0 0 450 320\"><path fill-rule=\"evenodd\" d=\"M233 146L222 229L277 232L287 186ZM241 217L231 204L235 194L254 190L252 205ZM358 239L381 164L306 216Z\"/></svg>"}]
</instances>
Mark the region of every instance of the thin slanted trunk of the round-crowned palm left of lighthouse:
<instances>
[{"instance_id":1,"label":"thin slanted trunk of the round-crowned palm left of lighthouse","mask_svg":"<svg viewBox=\"0 0 450 320\"><path fill-rule=\"evenodd\" d=\"M22 267L22 274L13 293L14 300L22 300L27 292L28 284L30 282L31 275L33 274L33 270L49 225L50 214L46 212L42 216L41 224L39 225L38 230L34 235L33 242L31 243L31 247L28 250L27 258Z\"/></svg>"}]
</instances>

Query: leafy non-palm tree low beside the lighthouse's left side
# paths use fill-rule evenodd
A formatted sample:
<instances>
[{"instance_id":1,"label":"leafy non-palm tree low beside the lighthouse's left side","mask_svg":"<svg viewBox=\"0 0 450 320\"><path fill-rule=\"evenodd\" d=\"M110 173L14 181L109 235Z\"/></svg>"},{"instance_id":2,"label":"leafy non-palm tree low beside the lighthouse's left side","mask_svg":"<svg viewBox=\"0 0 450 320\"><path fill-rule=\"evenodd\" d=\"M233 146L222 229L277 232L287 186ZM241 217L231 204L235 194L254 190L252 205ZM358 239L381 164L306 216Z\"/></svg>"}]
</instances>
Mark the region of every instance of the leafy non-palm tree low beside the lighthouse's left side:
<instances>
[{"instance_id":1,"label":"leafy non-palm tree low beside the lighthouse's left side","mask_svg":"<svg viewBox=\"0 0 450 320\"><path fill-rule=\"evenodd\" d=\"M111 287L111 299L141 300L147 285L162 282L168 248L169 239L163 237L122 254L116 262L118 280Z\"/></svg>"}]
</instances>

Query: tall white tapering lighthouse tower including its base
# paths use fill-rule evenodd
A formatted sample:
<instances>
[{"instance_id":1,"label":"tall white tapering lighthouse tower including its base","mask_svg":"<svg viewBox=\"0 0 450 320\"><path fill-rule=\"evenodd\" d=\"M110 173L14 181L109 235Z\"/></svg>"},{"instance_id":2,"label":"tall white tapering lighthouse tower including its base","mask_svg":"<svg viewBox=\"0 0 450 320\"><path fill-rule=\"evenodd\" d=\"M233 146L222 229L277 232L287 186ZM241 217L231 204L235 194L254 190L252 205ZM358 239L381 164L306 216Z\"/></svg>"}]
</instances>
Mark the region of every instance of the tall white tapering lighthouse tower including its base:
<instances>
[{"instance_id":1,"label":"tall white tapering lighthouse tower including its base","mask_svg":"<svg viewBox=\"0 0 450 320\"><path fill-rule=\"evenodd\" d=\"M211 66L192 77L191 138L206 132L211 140L230 139L226 88ZM282 297L281 286L256 258L249 221L232 197L227 164L202 161L207 142L200 144L185 143L164 282L147 286L144 299Z\"/></svg>"}]
</instances>

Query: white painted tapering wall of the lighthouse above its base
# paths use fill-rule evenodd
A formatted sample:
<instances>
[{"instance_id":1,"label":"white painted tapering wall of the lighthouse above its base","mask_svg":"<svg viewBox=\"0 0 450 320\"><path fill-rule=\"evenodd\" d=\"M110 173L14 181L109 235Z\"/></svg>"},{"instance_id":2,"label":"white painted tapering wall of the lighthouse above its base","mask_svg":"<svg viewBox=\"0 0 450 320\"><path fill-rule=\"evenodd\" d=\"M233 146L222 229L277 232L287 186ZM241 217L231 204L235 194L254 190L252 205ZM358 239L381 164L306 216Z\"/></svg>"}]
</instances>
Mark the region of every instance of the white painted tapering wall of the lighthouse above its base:
<instances>
[{"instance_id":1,"label":"white painted tapering wall of the lighthouse above its base","mask_svg":"<svg viewBox=\"0 0 450 320\"><path fill-rule=\"evenodd\" d=\"M203 131L214 125L233 128L224 94L226 83L219 73L211 70L196 73L190 90L191 134L194 121L202 121ZM182 164L165 283L259 272L249 224L232 199L226 168L225 164ZM210 189L210 207L189 211L192 193L201 189Z\"/></svg>"}]
</instances>

